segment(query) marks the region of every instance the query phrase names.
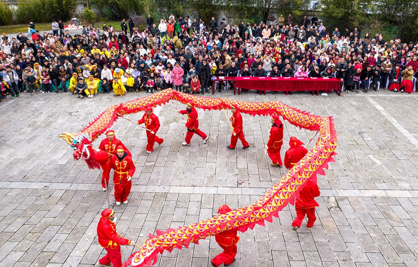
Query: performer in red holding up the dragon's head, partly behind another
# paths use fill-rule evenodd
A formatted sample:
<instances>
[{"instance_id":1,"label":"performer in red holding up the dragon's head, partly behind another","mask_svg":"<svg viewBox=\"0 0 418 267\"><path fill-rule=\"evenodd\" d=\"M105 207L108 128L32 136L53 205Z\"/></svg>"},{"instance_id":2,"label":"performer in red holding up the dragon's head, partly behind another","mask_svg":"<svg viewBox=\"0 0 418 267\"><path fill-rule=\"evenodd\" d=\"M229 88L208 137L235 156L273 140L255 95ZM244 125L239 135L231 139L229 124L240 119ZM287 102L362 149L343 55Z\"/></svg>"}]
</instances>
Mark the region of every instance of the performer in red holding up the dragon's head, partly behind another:
<instances>
[{"instance_id":1,"label":"performer in red holding up the dragon's head, partly behind another","mask_svg":"<svg viewBox=\"0 0 418 267\"><path fill-rule=\"evenodd\" d=\"M102 175L102 186L103 191L106 191L106 185L104 184L104 179L106 179L106 184L109 185L109 177L110 177L110 167L109 167L109 161L112 155L116 155L116 148L118 146L122 146L125 150L126 154L128 156L132 157L131 152L122 144L121 140L115 138L115 132L113 130L108 130L106 132L107 138L103 139L102 142L100 142L99 149L96 151L106 151L109 155L109 159L107 160L106 164L102 164L103 169L103 175Z\"/></svg>"}]
</instances>

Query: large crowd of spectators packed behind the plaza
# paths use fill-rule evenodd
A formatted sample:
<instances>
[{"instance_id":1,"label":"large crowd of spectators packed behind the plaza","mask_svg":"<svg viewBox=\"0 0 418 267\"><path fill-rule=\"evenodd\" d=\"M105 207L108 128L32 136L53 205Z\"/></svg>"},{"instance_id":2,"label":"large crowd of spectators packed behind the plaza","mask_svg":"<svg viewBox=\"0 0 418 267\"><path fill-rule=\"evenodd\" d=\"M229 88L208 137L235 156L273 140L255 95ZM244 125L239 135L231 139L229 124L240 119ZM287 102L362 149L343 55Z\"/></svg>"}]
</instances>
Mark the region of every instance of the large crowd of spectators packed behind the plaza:
<instances>
[{"instance_id":1,"label":"large crowd of spectators packed behind the plaza","mask_svg":"<svg viewBox=\"0 0 418 267\"><path fill-rule=\"evenodd\" d=\"M139 30L128 18L120 32L87 25L71 36L53 21L52 33L40 35L33 23L29 36L3 33L1 98L59 91L92 98L100 91L123 96L165 88L203 95L212 76L336 77L347 92L380 86L411 93L417 77L418 42L327 29L316 16L230 25L225 18L205 23L172 14L159 21L148 16L147 24Z\"/></svg>"}]
</instances>

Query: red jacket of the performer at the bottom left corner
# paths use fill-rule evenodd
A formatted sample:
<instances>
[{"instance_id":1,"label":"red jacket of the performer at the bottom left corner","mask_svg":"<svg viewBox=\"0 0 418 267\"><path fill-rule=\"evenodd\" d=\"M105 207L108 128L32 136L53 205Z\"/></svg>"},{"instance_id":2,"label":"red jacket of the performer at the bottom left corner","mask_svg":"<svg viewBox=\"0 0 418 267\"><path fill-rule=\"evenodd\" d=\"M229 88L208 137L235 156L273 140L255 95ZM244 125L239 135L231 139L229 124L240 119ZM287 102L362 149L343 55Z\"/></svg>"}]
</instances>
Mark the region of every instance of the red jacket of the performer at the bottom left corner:
<instances>
[{"instance_id":1,"label":"red jacket of the performer at the bottom left corner","mask_svg":"<svg viewBox=\"0 0 418 267\"><path fill-rule=\"evenodd\" d=\"M99 244L103 248L116 249L119 245L129 245L131 240L123 238L116 233L116 225L108 217L101 217L97 224L97 236Z\"/></svg>"}]
</instances>

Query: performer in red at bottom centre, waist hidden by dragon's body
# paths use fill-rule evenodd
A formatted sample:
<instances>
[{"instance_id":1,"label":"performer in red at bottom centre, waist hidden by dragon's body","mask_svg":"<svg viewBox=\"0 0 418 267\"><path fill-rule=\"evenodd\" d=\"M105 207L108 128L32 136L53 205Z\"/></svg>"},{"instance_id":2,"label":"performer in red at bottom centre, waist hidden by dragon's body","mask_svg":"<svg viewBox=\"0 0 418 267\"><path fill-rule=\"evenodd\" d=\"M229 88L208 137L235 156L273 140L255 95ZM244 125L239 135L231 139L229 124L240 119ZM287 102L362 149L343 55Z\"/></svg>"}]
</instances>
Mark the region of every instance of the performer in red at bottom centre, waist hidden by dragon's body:
<instances>
[{"instance_id":1,"label":"performer in red at bottom centre, waist hidden by dragon's body","mask_svg":"<svg viewBox=\"0 0 418 267\"><path fill-rule=\"evenodd\" d=\"M226 214L230 212L231 209L228 205L222 205L218 209L219 214ZM235 255L237 254L237 244L240 238L237 236L237 230L228 230L220 234L215 235L215 240L218 245L224 250L222 253L218 254L211 261L212 266L228 266L235 261Z\"/></svg>"}]
</instances>

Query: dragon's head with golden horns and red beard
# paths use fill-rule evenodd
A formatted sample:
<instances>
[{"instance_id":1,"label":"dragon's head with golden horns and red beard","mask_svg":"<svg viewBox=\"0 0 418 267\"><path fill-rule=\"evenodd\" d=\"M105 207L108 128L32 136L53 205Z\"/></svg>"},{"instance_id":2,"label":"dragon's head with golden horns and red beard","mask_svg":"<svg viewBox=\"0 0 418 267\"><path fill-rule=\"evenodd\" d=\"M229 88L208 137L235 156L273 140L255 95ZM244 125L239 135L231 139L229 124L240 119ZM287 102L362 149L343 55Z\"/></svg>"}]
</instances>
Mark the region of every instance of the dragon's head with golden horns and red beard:
<instances>
[{"instance_id":1,"label":"dragon's head with golden horns and red beard","mask_svg":"<svg viewBox=\"0 0 418 267\"><path fill-rule=\"evenodd\" d=\"M89 168L100 168L100 164L95 159L95 150L92 148L91 138L84 133L71 134L63 133L59 137L64 139L72 148L74 160L84 159Z\"/></svg>"}]
</instances>

